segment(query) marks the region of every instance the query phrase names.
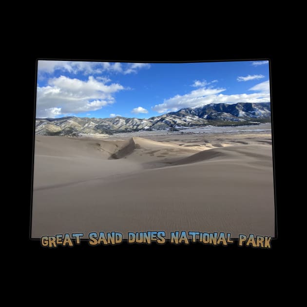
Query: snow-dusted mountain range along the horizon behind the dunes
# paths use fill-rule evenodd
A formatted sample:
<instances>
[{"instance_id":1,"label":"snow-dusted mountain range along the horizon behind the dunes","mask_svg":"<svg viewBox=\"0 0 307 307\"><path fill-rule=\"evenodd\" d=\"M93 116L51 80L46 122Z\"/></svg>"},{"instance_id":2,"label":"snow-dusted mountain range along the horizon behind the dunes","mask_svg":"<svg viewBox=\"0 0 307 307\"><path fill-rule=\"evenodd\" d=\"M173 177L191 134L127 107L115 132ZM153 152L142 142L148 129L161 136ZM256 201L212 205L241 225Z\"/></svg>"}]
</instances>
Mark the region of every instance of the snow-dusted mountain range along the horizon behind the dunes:
<instances>
[{"instance_id":1,"label":"snow-dusted mountain range along the horizon behind the dunes","mask_svg":"<svg viewBox=\"0 0 307 307\"><path fill-rule=\"evenodd\" d=\"M135 131L176 131L194 126L257 125L269 122L270 103L211 103L180 109L148 119L116 116L113 118L89 118L66 116L60 118L36 118L35 134L71 135L114 134Z\"/></svg>"}]
</instances>

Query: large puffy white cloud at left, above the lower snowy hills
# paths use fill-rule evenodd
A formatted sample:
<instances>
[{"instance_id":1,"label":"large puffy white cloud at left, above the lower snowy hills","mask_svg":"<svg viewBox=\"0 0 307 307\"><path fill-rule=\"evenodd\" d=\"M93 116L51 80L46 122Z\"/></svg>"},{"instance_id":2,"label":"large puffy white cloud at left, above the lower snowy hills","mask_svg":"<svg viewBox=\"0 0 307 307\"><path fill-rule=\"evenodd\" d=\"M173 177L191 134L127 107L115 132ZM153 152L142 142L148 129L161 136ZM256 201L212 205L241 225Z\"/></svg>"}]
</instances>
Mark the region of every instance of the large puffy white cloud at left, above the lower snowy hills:
<instances>
[{"instance_id":1,"label":"large puffy white cloud at left, above the lower snowy hills","mask_svg":"<svg viewBox=\"0 0 307 307\"><path fill-rule=\"evenodd\" d=\"M90 76L87 81L60 76L37 88L37 117L55 117L96 111L114 103L113 95L123 90L117 83L105 85Z\"/></svg>"}]
</instances>

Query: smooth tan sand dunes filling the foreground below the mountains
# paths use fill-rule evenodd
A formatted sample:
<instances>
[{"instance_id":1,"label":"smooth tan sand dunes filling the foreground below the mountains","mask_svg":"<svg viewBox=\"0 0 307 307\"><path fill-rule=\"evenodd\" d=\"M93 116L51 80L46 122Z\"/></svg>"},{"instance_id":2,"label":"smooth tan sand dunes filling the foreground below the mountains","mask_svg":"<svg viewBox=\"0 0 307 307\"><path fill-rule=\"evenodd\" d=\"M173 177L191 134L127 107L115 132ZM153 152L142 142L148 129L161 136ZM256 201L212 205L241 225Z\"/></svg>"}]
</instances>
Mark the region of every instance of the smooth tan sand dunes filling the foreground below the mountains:
<instances>
[{"instance_id":1,"label":"smooth tan sand dunes filling the foreground below the mountains","mask_svg":"<svg viewBox=\"0 0 307 307\"><path fill-rule=\"evenodd\" d=\"M247 144L220 137L189 144L180 135L165 142L36 136L32 237L147 230L274 236L271 146L252 136Z\"/></svg>"}]
</instances>

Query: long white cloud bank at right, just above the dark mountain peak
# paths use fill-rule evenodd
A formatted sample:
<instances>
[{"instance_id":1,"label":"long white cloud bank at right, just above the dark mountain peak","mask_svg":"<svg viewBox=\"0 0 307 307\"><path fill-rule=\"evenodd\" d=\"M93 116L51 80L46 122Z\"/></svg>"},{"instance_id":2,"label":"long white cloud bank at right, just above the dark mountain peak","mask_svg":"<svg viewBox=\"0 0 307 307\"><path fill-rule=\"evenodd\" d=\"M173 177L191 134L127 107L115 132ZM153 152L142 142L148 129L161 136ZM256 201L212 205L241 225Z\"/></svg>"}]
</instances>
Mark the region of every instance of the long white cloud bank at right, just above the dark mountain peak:
<instances>
[{"instance_id":1,"label":"long white cloud bank at right, just above the dark mountain peak","mask_svg":"<svg viewBox=\"0 0 307 307\"><path fill-rule=\"evenodd\" d=\"M152 107L152 109L153 111L163 114L172 111L178 111L182 108L192 108L195 106L203 106L210 103L233 104L237 102L269 102L269 92L263 91L264 89L265 86L259 86L258 89L253 90L260 91L260 93L223 95L220 93L225 91L226 89L201 88L194 90L186 95L176 95L172 98L165 99L162 104L155 105L154 107Z\"/></svg>"}]
</instances>

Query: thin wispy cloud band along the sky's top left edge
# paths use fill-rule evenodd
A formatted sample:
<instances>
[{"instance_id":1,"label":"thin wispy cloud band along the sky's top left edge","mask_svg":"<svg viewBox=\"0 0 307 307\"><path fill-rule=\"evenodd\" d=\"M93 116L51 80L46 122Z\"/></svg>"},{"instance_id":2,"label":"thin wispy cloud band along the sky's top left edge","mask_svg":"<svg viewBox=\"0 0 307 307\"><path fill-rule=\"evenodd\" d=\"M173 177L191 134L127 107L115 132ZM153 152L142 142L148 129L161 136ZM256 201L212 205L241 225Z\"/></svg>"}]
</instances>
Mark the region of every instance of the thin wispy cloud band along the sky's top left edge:
<instances>
[{"instance_id":1,"label":"thin wispy cloud band along the sky's top left edge","mask_svg":"<svg viewBox=\"0 0 307 307\"><path fill-rule=\"evenodd\" d=\"M105 72L116 72L127 75L137 73L142 68L150 68L150 64L38 60L38 74L40 75L43 73L52 74L56 70L71 74L82 73L83 75L97 75Z\"/></svg>"}]
</instances>

